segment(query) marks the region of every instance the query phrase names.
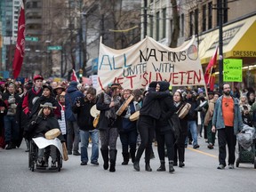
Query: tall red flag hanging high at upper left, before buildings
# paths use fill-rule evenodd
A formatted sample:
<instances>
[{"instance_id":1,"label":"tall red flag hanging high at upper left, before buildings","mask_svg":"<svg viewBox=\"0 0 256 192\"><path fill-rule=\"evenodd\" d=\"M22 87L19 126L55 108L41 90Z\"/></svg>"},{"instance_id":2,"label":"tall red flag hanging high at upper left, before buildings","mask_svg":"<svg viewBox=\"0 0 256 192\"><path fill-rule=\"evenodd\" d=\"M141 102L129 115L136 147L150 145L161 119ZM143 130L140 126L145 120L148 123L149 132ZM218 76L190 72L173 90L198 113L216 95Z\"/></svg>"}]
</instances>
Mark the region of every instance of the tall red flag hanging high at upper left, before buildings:
<instances>
[{"instance_id":1,"label":"tall red flag hanging high at upper left, before buildings","mask_svg":"<svg viewBox=\"0 0 256 192\"><path fill-rule=\"evenodd\" d=\"M21 6L20 17L18 22L18 36L16 42L16 49L14 59L12 62L13 78L16 79L20 75L20 70L25 53L25 13L24 8Z\"/></svg>"}]
</instances>

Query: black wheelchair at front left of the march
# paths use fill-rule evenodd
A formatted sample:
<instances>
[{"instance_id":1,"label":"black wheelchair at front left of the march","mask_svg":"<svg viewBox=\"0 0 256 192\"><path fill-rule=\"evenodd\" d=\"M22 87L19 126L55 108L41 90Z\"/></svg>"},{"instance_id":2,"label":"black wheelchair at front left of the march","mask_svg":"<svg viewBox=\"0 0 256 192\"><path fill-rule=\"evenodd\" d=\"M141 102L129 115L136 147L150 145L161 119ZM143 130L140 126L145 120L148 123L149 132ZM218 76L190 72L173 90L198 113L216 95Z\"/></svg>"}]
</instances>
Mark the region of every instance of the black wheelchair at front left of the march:
<instances>
[{"instance_id":1,"label":"black wheelchair at front left of the march","mask_svg":"<svg viewBox=\"0 0 256 192\"><path fill-rule=\"evenodd\" d=\"M49 160L50 157L50 146L44 148L44 160ZM60 151L57 149L57 159L56 159L56 167L49 167L47 164L42 164L42 166L37 165L37 155L38 155L38 147L34 140L29 140L29 151L28 151L28 168L31 170L31 172L34 172L35 169L37 170L57 170L60 172L62 168L62 156L60 154Z\"/></svg>"}]
</instances>

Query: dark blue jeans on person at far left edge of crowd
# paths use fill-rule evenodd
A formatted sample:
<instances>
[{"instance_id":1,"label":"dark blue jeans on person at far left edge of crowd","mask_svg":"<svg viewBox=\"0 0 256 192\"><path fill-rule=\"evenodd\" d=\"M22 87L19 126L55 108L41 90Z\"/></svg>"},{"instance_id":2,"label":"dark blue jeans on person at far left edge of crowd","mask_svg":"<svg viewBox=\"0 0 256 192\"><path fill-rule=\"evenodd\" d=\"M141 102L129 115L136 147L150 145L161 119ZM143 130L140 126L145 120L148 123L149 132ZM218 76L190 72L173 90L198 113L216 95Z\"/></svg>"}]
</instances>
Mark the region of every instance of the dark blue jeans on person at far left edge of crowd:
<instances>
[{"instance_id":1,"label":"dark blue jeans on person at far left edge of crowd","mask_svg":"<svg viewBox=\"0 0 256 192\"><path fill-rule=\"evenodd\" d=\"M4 140L6 143L19 140L19 125L15 116L4 116Z\"/></svg>"}]
</instances>

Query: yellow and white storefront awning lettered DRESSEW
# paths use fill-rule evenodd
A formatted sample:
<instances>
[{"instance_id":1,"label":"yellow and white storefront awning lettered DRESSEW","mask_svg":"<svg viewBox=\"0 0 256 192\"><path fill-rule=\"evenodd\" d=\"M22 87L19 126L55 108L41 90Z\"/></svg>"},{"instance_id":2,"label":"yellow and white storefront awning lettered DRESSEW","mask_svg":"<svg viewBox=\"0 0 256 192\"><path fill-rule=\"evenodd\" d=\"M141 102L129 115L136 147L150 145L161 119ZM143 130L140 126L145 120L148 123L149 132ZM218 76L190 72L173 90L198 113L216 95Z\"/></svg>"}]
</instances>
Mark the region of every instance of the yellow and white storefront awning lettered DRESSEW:
<instances>
[{"instance_id":1,"label":"yellow and white storefront awning lettered DRESSEW","mask_svg":"<svg viewBox=\"0 0 256 192\"><path fill-rule=\"evenodd\" d=\"M223 58L256 58L256 15L223 27ZM219 28L199 36L199 57L208 64L219 44ZM218 55L219 56L219 55Z\"/></svg>"}]
</instances>

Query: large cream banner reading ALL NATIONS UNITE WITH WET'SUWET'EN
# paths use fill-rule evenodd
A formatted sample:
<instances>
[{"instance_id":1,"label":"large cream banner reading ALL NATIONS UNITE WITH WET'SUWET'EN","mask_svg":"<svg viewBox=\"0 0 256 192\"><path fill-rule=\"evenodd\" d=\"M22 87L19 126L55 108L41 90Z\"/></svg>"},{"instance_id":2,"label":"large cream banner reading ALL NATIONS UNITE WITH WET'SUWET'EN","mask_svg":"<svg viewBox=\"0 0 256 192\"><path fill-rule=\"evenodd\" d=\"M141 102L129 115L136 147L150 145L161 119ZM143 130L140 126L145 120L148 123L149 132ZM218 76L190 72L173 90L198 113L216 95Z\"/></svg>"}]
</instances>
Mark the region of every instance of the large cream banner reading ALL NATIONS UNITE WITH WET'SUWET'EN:
<instances>
[{"instance_id":1,"label":"large cream banner reading ALL NATIONS UNITE WITH WET'SUWET'EN","mask_svg":"<svg viewBox=\"0 0 256 192\"><path fill-rule=\"evenodd\" d=\"M204 85L195 36L177 48L159 44L149 36L123 50L100 42L98 92L112 83L133 90L152 81L167 81L172 86Z\"/></svg>"}]
</instances>

